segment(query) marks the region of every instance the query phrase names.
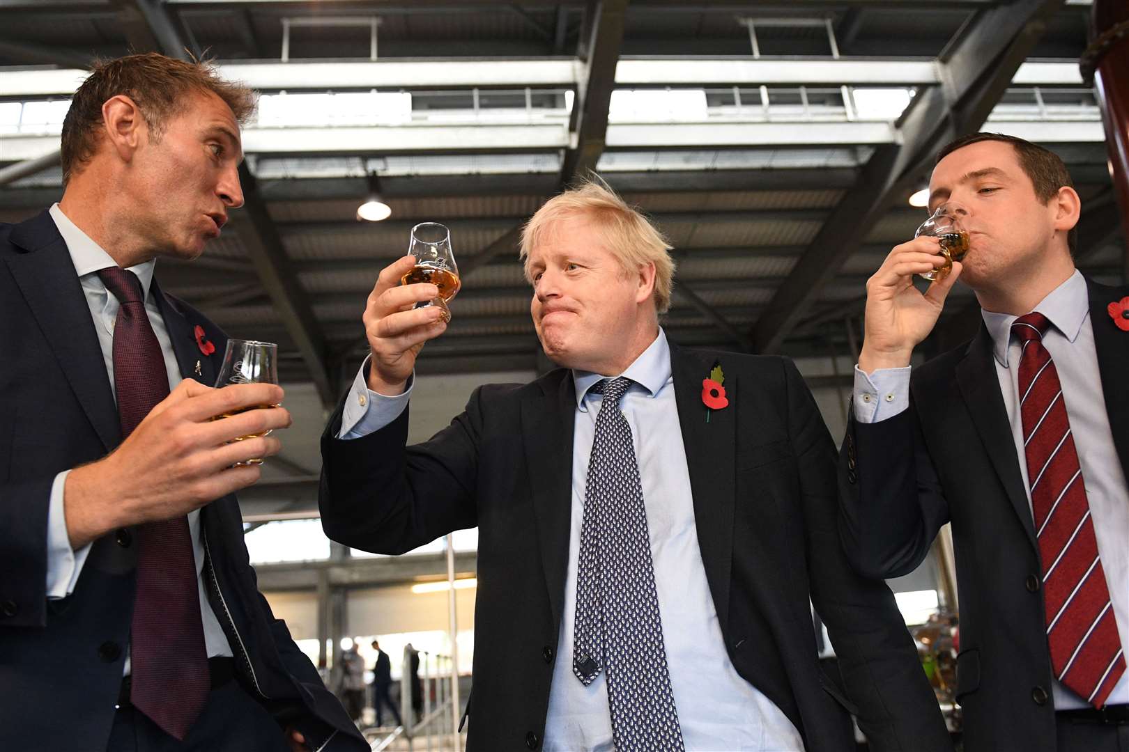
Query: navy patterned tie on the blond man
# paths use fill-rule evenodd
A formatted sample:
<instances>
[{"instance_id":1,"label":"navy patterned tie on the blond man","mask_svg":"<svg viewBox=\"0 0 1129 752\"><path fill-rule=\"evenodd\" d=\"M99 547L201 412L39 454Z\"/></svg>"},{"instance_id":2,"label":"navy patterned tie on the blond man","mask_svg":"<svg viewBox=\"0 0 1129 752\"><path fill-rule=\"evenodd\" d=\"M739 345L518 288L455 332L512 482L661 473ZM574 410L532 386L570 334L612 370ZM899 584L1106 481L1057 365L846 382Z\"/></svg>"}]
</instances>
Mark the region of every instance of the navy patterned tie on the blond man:
<instances>
[{"instance_id":1,"label":"navy patterned tie on the blond man","mask_svg":"<svg viewBox=\"0 0 1129 752\"><path fill-rule=\"evenodd\" d=\"M684 750L666 666L647 512L620 398L631 379L592 388L604 399L588 461L577 566L572 673L606 671L616 752Z\"/></svg>"}]
</instances>

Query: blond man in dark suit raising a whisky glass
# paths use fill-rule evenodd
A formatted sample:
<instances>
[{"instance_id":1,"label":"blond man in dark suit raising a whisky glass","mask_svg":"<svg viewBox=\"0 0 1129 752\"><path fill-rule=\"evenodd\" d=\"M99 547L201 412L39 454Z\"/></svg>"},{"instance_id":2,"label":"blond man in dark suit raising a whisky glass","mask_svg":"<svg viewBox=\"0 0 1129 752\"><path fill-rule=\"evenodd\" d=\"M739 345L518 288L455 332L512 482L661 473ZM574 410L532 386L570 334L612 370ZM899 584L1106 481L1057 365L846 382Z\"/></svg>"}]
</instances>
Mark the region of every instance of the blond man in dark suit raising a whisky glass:
<instances>
[{"instance_id":1,"label":"blond man in dark suit raising a whisky glass","mask_svg":"<svg viewBox=\"0 0 1129 752\"><path fill-rule=\"evenodd\" d=\"M548 202L522 248L563 368L479 388L405 449L415 355L446 327L413 308L434 285L399 285L405 256L322 444L331 538L402 554L479 527L469 747L842 751L854 713L874 750L951 749L890 591L843 559L834 448L791 362L669 344L669 246L605 187Z\"/></svg>"}]
</instances>

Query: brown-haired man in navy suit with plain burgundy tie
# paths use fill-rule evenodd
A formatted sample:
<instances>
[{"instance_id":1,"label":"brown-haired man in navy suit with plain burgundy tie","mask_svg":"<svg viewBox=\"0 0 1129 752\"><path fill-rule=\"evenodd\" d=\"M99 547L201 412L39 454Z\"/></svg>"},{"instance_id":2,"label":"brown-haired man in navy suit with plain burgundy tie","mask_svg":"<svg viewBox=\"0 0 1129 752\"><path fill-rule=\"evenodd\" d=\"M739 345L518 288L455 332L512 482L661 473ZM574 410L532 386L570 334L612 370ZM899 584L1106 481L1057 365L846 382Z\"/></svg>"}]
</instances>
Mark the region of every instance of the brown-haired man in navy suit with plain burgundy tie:
<instances>
[{"instance_id":1,"label":"brown-haired man in navy suit with plain burgundy tie","mask_svg":"<svg viewBox=\"0 0 1129 752\"><path fill-rule=\"evenodd\" d=\"M0 224L0 749L365 750L257 591L233 492L279 451L272 384L161 292L243 203L250 91L207 65L95 67L62 201ZM217 415L238 413L224 421Z\"/></svg>"}]
</instances>

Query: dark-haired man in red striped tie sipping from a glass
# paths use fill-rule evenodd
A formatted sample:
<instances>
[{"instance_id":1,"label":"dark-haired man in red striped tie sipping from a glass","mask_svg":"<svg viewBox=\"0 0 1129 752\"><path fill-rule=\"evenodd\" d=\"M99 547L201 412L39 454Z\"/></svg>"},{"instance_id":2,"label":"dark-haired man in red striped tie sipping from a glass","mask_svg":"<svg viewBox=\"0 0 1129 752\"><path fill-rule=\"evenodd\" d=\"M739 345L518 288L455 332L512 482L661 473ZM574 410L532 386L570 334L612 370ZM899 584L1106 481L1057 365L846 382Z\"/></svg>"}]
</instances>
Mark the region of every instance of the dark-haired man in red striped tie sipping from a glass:
<instances>
[{"instance_id":1,"label":"dark-haired man in red striped tie sipping from a glass","mask_svg":"<svg viewBox=\"0 0 1129 752\"><path fill-rule=\"evenodd\" d=\"M935 238L895 247L867 283L840 458L844 548L861 573L892 577L952 522L965 749L1123 750L1129 289L1074 267L1078 194L1041 147L963 139L929 189L930 209L961 205L971 246L925 293L911 278L942 264ZM957 277L983 325L910 375Z\"/></svg>"}]
</instances>

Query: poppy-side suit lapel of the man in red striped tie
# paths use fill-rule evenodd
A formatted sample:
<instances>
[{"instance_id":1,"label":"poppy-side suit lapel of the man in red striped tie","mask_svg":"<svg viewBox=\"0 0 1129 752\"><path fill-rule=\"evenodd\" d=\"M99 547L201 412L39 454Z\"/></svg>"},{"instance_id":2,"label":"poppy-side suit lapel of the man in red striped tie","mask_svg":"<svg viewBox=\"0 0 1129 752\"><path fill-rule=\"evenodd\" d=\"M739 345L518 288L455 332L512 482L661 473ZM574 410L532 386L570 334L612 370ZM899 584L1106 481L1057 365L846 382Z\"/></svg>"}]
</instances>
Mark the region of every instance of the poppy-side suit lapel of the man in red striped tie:
<instances>
[{"instance_id":1,"label":"poppy-side suit lapel of the man in red striped tie","mask_svg":"<svg viewBox=\"0 0 1129 752\"><path fill-rule=\"evenodd\" d=\"M1089 287L1089 324L1094 329L1094 350L1097 369L1102 374L1105 412L1110 418L1113 445L1121 460L1121 469L1129 477L1129 331L1113 324L1106 307L1129 295L1129 290L1117 290L1086 281Z\"/></svg>"}]
</instances>

